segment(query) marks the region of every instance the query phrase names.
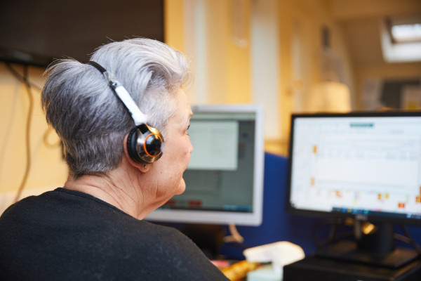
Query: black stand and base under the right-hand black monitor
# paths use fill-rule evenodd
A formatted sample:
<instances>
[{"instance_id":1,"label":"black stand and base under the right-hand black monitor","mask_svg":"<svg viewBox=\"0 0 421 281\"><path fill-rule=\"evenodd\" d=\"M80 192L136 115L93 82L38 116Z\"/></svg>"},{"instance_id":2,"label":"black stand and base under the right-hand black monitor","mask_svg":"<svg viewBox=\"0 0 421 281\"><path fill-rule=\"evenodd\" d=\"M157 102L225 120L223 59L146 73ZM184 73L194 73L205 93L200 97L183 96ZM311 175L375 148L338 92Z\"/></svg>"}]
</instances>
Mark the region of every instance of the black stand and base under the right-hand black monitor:
<instances>
[{"instance_id":1,"label":"black stand and base under the right-hand black monitor","mask_svg":"<svg viewBox=\"0 0 421 281\"><path fill-rule=\"evenodd\" d=\"M390 223L375 226L368 234L363 233L361 225L361 221L356 221L356 240L341 240L328 244L327 247L316 251L315 256L387 268L400 268L419 257L414 249L396 248Z\"/></svg>"}]
</instances>

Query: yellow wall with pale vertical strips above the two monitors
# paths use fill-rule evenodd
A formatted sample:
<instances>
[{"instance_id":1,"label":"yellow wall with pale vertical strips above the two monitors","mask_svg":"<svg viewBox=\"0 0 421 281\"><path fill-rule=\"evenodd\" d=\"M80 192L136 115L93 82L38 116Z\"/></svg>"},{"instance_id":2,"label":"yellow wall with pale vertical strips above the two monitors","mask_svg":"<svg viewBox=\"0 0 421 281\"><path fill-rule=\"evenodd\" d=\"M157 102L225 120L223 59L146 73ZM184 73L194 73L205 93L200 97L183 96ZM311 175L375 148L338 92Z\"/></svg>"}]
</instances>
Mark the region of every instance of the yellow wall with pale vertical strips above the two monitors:
<instances>
[{"instance_id":1,"label":"yellow wall with pale vertical strips above the two monitors","mask_svg":"<svg viewBox=\"0 0 421 281\"><path fill-rule=\"evenodd\" d=\"M178 8L168 13L174 25L182 18L184 40L177 44L192 58L196 76L187 91L191 103L264 105L267 151L286 155L290 114L302 111L312 87L321 81L321 27L329 27L331 49L342 56L345 81L354 89L349 54L328 1L175 3Z\"/></svg>"}]
</instances>

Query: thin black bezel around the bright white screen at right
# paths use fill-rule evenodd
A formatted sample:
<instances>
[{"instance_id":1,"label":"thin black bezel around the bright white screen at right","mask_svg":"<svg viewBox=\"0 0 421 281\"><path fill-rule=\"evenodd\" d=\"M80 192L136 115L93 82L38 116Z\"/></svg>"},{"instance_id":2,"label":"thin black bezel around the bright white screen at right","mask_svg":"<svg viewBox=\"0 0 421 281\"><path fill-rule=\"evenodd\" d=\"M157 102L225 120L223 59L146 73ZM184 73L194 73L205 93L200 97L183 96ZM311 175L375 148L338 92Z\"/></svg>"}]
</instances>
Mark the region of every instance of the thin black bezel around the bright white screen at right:
<instances>
[{"instance_id":1,"label":"thin black bezel around the bright white screen at right","mask_svg":"<svg viewBox=\"0 0 421 281\"><path fill-rule=\"evenodd\" d=\"M385 110L385 111L361 111L361 112L347 112L347 113L293 113L290 118L290 137L288 144L288 171L287 171L287 185L286 185L286 211L290 214L297 214L302 216L314 216L319 218L354 218L358 221L370 221L378 223L403 223L408 225L421 226L421 219L419 218L405 218L394 217L385 214L360 214L352 212L336 212L336 211L316 211L310 209L297 209L293 207L290 200L291 195L291 175L293 166L293 143L294 143L294 122L298 118L319 118L319 117L421 117L421 111L399 111L399 110Z\"/></svg>"}]
</instances>

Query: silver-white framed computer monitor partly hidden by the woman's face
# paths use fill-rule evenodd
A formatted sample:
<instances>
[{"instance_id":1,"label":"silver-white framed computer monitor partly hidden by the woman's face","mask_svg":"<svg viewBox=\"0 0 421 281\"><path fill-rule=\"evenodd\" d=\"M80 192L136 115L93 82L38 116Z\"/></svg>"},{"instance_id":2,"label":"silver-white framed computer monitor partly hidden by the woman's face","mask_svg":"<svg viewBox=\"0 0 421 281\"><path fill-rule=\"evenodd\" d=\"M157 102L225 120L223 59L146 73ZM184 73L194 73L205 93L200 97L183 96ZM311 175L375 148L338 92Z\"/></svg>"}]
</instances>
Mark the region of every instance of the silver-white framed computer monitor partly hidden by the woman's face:
<instances>
[{"instance_id":1,"label":"silver-white framed computer monitor partly hidden by the woman's face","mask_svg":"<svg viewBox=\"0 0 421 281\"><path fill-rule=\"evenodd\" d=\"M264 133L259 105L193 106L194 147L186 190L150 221L258 226L262 222Z\"/></svg>"}]
</instances>

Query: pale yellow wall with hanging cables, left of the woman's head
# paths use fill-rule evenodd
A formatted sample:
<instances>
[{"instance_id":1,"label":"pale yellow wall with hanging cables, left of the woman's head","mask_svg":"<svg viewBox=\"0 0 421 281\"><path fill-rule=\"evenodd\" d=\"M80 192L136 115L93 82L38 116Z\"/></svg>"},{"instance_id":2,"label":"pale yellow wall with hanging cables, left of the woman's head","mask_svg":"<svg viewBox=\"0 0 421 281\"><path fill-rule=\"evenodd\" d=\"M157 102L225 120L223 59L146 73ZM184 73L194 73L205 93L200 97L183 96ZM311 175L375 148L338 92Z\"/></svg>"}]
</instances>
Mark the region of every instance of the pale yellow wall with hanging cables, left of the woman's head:
<instances>
[{"instance_id":1,"label":"pale yellow wall with hanging cables, left of the woman's head","mask_svg":"<svg viewBox=\"0 0 421 281\"><path fill-rule=\"evenodd\" d=\"M23 74L21 65L12 65ZM44 69L29 67L29 81L41 87L44 84ZM0 192L17 190L25 174L27 161L25 129L29 110L29 93L24 84L16 79L5 63L0 63ZM48 129L40 105L40 91L32 87L34 110L30 127L32 163L27 179L27 188L56 187L67 178L67 167L59 147L48 148L43 143ZM48 136L49 143L57 143L55 133Z\"/></svg>"}]
</instances>

